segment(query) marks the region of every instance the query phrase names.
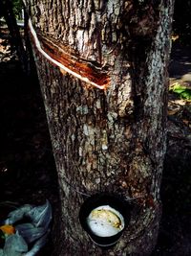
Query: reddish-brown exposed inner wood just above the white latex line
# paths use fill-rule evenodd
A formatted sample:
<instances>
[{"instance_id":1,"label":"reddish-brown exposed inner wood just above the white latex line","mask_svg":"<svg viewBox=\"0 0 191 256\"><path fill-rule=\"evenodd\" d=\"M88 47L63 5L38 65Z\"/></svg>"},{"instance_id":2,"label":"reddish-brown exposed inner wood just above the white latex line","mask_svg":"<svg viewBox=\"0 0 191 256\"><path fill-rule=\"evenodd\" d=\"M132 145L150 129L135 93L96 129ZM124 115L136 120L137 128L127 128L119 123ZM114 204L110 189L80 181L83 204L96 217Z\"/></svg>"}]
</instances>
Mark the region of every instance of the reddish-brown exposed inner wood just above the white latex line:
<instances>
[{"instance_id":1,"label":"reddish-brown exposed inner wood just above the white latex line","mask_svg":"<svg viewBox=\"0 0 191 256\"><path fill-rule=\"evenodd\" d=\"M30 29L32 29L30 27ZM34 35L31 32L31 35L34 37ZM69 49L69 47L65 45L61 45L60 43L53 42L53 39L48 38L46 35L37 35L36 38L33 38L33 41L35 43L36 40L40 38L40 47L42 50L49 55L54 60L61 63L63 66L68 68L69 70L75 73L76 77L78 77L82 81L87 81L88 83L98 87L99 89L106 89L110 83L110 77L108 76L108 72L106 69L102 68L100 64L98 64L96 61L89 61L85 60L83 58L80 58L77 53L74 53ZM37 46L37 43L35 43L35 46ZM67 71L65 69L62 69L60 67L60 71L65 74Z\"/></svg>"}]
</instances>

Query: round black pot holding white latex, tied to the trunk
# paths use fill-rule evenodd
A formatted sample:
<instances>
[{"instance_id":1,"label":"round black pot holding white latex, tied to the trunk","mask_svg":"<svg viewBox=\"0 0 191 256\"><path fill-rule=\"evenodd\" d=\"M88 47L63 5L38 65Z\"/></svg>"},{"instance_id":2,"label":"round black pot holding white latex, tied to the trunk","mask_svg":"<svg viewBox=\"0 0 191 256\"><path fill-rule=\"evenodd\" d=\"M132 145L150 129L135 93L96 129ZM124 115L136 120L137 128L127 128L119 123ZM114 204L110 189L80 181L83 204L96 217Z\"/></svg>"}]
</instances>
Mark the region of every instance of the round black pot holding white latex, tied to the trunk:
<instances>
[{"instance_id":1,"label":"round black pot holding white latex, tied to the trunk","mask_svg":"<svg viewBox=\"0 0 191 256\"><path fill-rule=\"evenodd\" d=\"M82 204L79 221L101 247L115 245L130 221L130 205L116 195L97 194Z\"/></svg>"}]
</instances>

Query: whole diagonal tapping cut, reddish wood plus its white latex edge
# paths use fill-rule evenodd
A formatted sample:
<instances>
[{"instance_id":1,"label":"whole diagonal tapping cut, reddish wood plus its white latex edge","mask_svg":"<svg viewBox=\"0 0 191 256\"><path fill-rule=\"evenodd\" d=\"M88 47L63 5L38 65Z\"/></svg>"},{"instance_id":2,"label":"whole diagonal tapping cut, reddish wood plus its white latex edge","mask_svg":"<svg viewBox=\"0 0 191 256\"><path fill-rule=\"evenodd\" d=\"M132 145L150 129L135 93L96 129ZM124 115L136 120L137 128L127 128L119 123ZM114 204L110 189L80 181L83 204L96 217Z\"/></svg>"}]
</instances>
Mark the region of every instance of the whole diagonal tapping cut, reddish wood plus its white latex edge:
<instances>
[{"instance_id":1,"label":"whole diagonal tapping cut, reddish wood plus its white latex edge","mask_svg":"<svg viewBox=\"0 0 191 256\"><path fill-rule=\"evenodd\" d=\"M37 50L53 64L60 68L60 71L67 72L80 81L85 81L96 88L106 89L109 85L109 77L105 73L100 73L100 69L96 70L96 67L90 66L88 62L82 61L78 58L74 58L69 53L67 54L57 45L53 44L51 40L44 40L42 49L38 36L33 29L32 20L29 19L29 29L32 34L33 42ZM64 53L63 53L64 52Z\"/></svg>"}]
</instances>

